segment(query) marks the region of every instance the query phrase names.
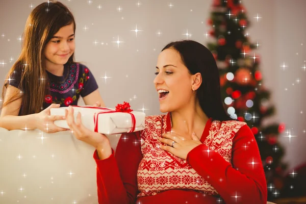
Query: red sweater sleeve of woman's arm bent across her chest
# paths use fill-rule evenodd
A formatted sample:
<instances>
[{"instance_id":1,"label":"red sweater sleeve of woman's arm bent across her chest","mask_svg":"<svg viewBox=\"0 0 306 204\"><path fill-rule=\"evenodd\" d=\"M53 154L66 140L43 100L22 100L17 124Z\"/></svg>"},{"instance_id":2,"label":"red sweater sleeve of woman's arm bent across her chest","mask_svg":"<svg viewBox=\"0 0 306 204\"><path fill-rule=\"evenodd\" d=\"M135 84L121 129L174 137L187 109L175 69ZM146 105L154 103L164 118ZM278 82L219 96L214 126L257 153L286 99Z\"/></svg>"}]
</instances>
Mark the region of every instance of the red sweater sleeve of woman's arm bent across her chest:
<instances>
[{"instance_id":1,"label":"red sweater sleeve of woman's arm bent across her chest","mask_svg":"<svg viewBox=\"0 0 306 204\"><path fill-rule=\"evenodd\" d=\"M192 168L208 181L225 203L266 203L267 185L257 141L247 125L236 133L232 164L205 144L187 155Z\"/></svg>"}]
</instances>

